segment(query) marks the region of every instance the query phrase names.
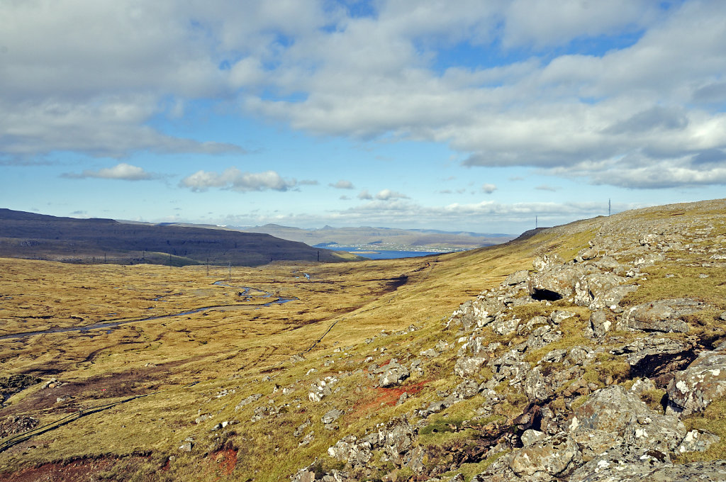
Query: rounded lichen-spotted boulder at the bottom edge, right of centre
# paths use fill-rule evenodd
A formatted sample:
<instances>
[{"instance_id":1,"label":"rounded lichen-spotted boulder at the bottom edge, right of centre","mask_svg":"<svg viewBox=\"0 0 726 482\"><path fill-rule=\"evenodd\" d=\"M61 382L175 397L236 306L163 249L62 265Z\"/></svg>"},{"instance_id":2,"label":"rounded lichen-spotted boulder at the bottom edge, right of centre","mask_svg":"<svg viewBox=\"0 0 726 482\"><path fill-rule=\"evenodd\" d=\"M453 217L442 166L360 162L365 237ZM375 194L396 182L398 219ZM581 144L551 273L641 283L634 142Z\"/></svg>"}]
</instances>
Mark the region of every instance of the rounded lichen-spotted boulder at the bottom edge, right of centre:
<instances>
[{"instance_id":1,"label":"rounded lichen-spotted boulder at the bottom edge, right of centre","mask_svg":"<svg viewBox=\"0 0 726 482\"><path fill-rule=\"evenodd\" d=\"M532 477L538 472L550 477L563 476L582 465L576 442L566 433L543 438L514 452L510 468L520 477Z\"/></svg>"}]
</instances>

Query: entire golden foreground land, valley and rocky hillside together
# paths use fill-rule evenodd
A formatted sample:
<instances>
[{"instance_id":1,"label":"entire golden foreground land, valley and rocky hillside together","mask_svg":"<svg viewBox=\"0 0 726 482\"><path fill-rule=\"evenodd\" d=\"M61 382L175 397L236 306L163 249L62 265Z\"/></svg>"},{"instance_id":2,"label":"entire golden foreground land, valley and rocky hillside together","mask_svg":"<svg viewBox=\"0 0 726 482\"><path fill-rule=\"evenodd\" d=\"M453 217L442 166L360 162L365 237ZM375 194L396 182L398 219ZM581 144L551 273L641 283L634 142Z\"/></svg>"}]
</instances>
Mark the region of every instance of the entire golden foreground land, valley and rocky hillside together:
<instances>
[{"instance_id":1,"label":"entire golden foreground land, valley and rocky hillside together","mask_svg":"<svg viewBox=\"0 0 726 482\"><path fill-rule=\"evenodd\" d=\"M574 481L605 453L638 477L717 473L726 402L672 385L722 362L725 218L722 200L673 205L465 253L231 273L0 259L0 474ZM641 425L587 418L611 399ZM660 454L635 467L627 430L659 417L677 430L627 442ZM681 450L687 432L711 442Z\"/></svg>"}]
</instances>

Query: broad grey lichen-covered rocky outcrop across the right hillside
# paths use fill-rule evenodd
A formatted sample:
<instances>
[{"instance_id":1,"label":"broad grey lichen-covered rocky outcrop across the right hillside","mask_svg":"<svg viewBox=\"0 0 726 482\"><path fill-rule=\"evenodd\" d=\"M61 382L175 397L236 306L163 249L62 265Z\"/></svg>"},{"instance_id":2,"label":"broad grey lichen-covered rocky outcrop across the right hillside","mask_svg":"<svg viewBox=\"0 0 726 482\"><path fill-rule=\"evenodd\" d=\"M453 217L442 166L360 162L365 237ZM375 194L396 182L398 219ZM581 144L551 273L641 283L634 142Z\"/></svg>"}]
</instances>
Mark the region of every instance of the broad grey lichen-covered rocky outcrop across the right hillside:
<instances>
[{"instance_id":1,"label":"broad grey lichen-covered rocky outcrop across the right hillside","mask_svg":"<svg viewBox=\"0 0 726 482\"><path fill-rule=\"evenodd\" d=\"M690 334L699 313L715 310L692 293L628 302L645 281L645 266L670 250L694 252L682 229L651 228L613 225L574 258L538 256L534 271L515 271L462 303L441 332L449 338L420 352L423 365L453 367L455 383L437 385L436 396L407 417L331 446L330 456L352 470L343 480L375 478L370 467L383 462L394 467L380 477L386 481L404 469L418 481L461 481L461 473L439 476L496 456L471 480L726 481L724 461L674 463L720 443L714 433L688 431L681 419L726 396L726 343L706 349ZM446 358L442 343L452 347ZM379 371L378 385L404 380L399 366L380 367L397 381L384 385ZM447 414L456 414L450 423ZM437 449L421 443L420 434L437 430L476 436L457 445L457 434Z\"/></svg>"}]
</instances>

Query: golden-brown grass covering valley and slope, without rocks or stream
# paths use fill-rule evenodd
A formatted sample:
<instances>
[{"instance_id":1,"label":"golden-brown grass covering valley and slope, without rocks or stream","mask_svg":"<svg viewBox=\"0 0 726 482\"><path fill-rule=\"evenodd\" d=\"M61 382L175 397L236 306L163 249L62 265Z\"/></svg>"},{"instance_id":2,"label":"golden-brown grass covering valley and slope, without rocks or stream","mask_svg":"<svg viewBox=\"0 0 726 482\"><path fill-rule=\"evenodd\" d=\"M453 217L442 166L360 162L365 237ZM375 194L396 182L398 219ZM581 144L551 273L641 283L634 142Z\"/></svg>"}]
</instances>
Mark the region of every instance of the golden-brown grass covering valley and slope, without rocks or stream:
<instances>
[{"instance_id":1,"label":"golden-brown grass covering valley and slope, without rocks or stream","mask_svg":"<svg viewBox=\"0 0 726 482\"><path fill-rule=\"evenodd\" d=\"M683 211L680 216L693 218L696 226L715 224L717 233L726 232L722 202L686 209L661 208L640 216L672 216L674 210ZM29 388L14 396L0 416L33 414L41 422L51 422L73 409L95 407L135 394L160 393L89 415L15 446L0 454L0 471L53 460L150 451L150 457L141 462L134 457L115 462L105 476L125 479L135 474L139 480L152 476L159 480L283 479L325 454L327 447L346 433L365 433L375 422L438 399L437 390L450 389L457 383L451 375L455 349L427 364L423 377L413 375L404 387L390 390L373 388L375 381L369 380L365 372L370 357L378 364L391 357L415 358L441 338L441 322L462 301L499 284L513 271L529 268L536 253L556 251L571 258L587 245L603 221L582 221L527 240L446 256L343 265L237 268L232 273L234 288L211 285L216 279L224 279L226 272L208 276L201 266L68 266L1 260L4 276L0 281L0 330L5 332L78 322L73 316L82 317L86 323L107 319L110 313L116 313L111 317L142 317L149 312L167 314L200 306L249 305L270 300L258 296L242 300L237 295L240 286L299 300L259 310L242 306L234 311L219 309L126 324L110 333L4 340L0 348L3 372L33 373L45 378L57 372L54 376L68 385L45 390L38 385ZM619 222L619 218L613 216L611 221ZM726 299L722 287L726 274L714 269L709 271L711 277L701 282L699 274L703 269L691 266L698 261L696 258L679 256L653 266L648 282L627 303L637 303L649 296L698 295L718 309L726 309L722 301ZM303 272L311 274L310 281L302 276ZM672 273L677 276L665 277ZM407 282L394 290L402 274L407 274ZM154 301L159 295L165 295L161 298L165 301ZM584 311L587 310L583 309L571 324L563 325L568 335L561 342L563 346L582 343L582 325L587 319ZM711 333L715 341L723 332L712 320L713 316L704 315L701 323L694 322L697 333ZM305 355L305 360L290 361L290 356L309 348L334 322L337 323L333 330ZM420 330L391 334L411 324ZM381 335L381 330L388 334ZM364 343L366 339L370 343ZM381 354L380 348L386 351ZM547 349L552 348L559 346ZM311 368L317 372L308 374ZM616 362L603 364L600 370L587 375L589 380L620 380L622 367ZM341 376L339 372L351 375ZM326 376L339 378L333 388L340 391L318 404L309 403L310 383ZM184 387L190 382L200 383ZM282 388L289 393L283 393ZM225 390L227 395L219 396ZM393 402L403 390L416 396L396 407ZM75 398L56 403L57 396L66 393ZM264 396L256 403L234 409L252 393ZM510 399L514 413L521 400L513 393ZM263 405L272 405L279 413L249 422L253 410ZM338 420L338 430L325 430L320 422L322 414L331 408L346 409ZM437 417L466 417L470 408L459 404L434 416L431 422L436 423ZM212 414L213 418L197 425L195 418L199 414ZM715 422L709 425L709 417L716 420L719 414L707 412L688 423L708 425L719 431ZM311 426L303 433L314 431L314 439L309 445L298 447L301 438L293 436L293 431L308 419ZM224 420L240 423L211 431L213 425ZM188 436L195 439L195 450L181 454L176 447ZM446 445L466 438L466 434L427 437L424 440ZM232 455L222 450L227 441L228 448L237 451L236 466L229 474L227 457ZM171 454L177 458L167 465ZM703 457L715 455L707 453ZM332 461L325 463L334 465ZM162 466L168 470L160 471ZM471 470L480 469L478 465Z\"/></svg>"}]
</instances>

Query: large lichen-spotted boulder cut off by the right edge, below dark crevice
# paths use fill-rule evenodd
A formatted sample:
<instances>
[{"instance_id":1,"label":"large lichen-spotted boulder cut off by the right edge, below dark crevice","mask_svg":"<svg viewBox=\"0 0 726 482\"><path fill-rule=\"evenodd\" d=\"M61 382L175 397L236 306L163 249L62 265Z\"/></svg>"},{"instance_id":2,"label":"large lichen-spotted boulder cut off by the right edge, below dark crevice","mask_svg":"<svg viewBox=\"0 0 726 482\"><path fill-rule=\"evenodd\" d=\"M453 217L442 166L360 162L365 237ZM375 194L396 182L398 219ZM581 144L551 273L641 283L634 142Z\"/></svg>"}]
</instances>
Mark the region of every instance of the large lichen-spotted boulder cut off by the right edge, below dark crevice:
<instances>
[{"instance_id":1,"label":"large lichen-spotted boulder cut off by the right edge, below dark crevice","mask_svg":"<svg viewBox=\"0 0 726 482\"><path fill-rule=\"evenodd\" d=\"M700 412L726 395L726 345L704 351L668 384L668 411L682 415Z\"/></svg>"}]
</instances>

